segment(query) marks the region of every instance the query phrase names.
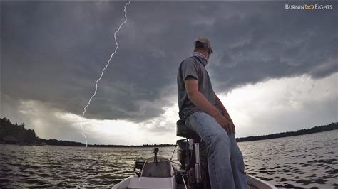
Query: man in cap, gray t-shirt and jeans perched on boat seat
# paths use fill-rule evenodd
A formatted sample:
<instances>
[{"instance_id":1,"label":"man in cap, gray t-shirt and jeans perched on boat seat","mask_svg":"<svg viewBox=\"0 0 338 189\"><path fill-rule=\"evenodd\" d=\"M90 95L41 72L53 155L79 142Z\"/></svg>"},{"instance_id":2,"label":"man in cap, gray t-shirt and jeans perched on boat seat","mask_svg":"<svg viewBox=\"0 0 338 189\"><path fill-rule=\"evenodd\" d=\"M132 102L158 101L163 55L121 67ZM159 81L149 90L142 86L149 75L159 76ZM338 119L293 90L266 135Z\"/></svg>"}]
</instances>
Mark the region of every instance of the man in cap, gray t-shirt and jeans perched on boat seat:
<instances>
[{"instance_id":1,"label":"man in cap, gray t-shirt and jeans perched on boat seat","mask_svg":"<svg viewBox=\"0 0 338 189\"><path fill-rule=\"evenodd\" d=\"M179 116L208 148L210 185L215 188L249 188L243 156L235 140L235 125L212 90L205 66L212 53L208 38L194 42L194 53L178 68Z\"/></svg>"}]
</instances>

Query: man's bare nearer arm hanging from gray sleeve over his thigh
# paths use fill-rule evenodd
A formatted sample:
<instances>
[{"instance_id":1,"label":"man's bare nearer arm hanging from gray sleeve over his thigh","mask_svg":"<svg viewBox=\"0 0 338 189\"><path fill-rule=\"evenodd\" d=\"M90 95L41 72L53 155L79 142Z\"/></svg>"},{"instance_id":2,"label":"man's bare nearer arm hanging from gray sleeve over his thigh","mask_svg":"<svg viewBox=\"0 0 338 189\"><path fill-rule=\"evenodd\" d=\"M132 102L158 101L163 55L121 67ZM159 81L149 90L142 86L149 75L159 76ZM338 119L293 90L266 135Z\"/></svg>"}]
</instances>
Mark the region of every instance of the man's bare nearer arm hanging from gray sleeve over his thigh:
<instances>
[{"instance_id":1,"label":"man's bare nearer arm hanging from gray sleeve over his thigh","mask_svg":"<svg viewBox=\"0 0 338 189\"><path fill-rule=\"evenodd\" d=\"M228 134L232 133L232 129L230 127L230 122L225 119L225 117L218 112L216 107L212 106L208 99L198 91L198 80L194 77L188 76L185 80L185 90L187 91L188 98L193 104L195 104L198 109L210 114L210 116L214 117L220 126L222 126Z\"/></svg>"}]
</instances>

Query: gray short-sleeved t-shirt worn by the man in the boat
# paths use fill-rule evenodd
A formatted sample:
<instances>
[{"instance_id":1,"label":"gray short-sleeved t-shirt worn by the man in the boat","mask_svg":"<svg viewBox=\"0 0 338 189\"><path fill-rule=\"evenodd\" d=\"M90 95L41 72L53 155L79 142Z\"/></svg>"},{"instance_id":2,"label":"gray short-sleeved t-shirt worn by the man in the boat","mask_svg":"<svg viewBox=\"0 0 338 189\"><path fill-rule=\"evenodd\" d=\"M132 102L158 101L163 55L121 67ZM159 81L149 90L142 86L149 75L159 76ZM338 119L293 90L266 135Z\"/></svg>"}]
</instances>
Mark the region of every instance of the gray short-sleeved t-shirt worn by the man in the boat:
<instances>
[{"instance_id":1,"label":"gray short-sleeved t-shirt worn by the man in the boat","mask_svg":"<svg viewBox=\"0 0 338 189\"><path fill-rule=\"evenodd\" d=\"M200 111L198 107L193 104L188 98L187 91L185 90L184 81L190 75L198 80L198 91L201 92L208 101L216 107L215 95L212 90L210 77L207 70L206 60L197 56L192 56L183 60L178 68L178 108L180 119L187 119L190 114Z\"/></svg>"}]
</instances>

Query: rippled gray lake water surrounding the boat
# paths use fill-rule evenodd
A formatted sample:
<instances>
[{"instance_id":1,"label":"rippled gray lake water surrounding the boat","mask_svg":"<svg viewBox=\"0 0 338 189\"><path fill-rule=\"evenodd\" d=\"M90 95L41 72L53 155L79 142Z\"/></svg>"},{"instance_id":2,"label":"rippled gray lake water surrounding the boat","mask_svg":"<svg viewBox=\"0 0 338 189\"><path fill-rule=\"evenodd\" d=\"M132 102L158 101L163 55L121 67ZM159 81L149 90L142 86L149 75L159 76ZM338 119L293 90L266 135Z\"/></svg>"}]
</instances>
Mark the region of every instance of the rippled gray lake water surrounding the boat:
<instances>
[{"instance_id":1,"label":"rippled gray lake water surrounding the boat","mask_svg":"<svg viewBox=\"0 0 338 189\"><path fill-rule=\"evenodd\" d=\"M338 130L238 146L246 172L277 187L338 187ZM160 156L173 149L160 148ZM111 187L134 174L136 159L152 155L153 148L0 144L0 187Z\"/></svg>"}]
</instances>

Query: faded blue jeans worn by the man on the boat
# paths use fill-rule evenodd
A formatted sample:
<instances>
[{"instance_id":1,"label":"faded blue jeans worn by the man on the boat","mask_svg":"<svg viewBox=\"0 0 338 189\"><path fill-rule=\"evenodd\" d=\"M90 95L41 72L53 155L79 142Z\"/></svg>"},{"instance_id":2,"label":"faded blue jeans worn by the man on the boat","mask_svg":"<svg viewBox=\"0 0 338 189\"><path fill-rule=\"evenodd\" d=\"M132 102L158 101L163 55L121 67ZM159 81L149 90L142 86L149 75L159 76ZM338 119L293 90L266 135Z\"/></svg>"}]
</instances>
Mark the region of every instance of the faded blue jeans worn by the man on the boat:
<instances>
[{"instance_id":1,"label":"faded blue jeans worn by the man on the boat","mask_svg":"<svg viewBox=\"0 0 338 189\"><path fill-rule=\"evenodd\" d=\"M234 134L228 135L216 119L205 112L191 114L185 125L205 141L212 189L249 188Z\"/></svg>"}]
</instances>

